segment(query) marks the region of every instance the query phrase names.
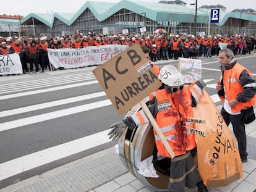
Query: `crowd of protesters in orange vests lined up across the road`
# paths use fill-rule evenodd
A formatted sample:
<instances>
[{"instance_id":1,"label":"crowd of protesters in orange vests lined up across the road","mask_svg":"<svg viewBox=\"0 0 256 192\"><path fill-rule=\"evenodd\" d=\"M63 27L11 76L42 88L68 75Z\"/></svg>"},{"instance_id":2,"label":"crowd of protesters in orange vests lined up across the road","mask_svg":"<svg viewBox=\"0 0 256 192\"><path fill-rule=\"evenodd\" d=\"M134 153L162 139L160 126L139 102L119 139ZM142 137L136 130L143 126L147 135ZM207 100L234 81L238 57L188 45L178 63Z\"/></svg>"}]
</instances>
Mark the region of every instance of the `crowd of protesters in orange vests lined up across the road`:
<instances>
[{"instance_id":1,"label":"crowd of protesters in orange vests lined up across the road","mask_svg":"<svg viewBox=\"0 0 256 192\"><path fill-rule=\"evenodd\" d=\"M175 59L179 57L198 59L200 57L212 57L218 55L220 43L227 43L228 48L234 54L250 54L256 50L256 36L241 35L166 35L158 34L95 34L93 30L83 34L77 30L70 36L33 36L27 37L2 37L0 36L0 55L8 55L14 52L20 56L23 73L39 73L51 67L47 51L51 49L80 49L87 46L101 46L106 44L121 44L132 46L135 43L147 46L150 49L152 62L161 59ZM30 64L28 67L27 64ZM52 67L53 68L53 67ZM53 68L53 70L56 70Z\"/></svg>"}]
</instances>

